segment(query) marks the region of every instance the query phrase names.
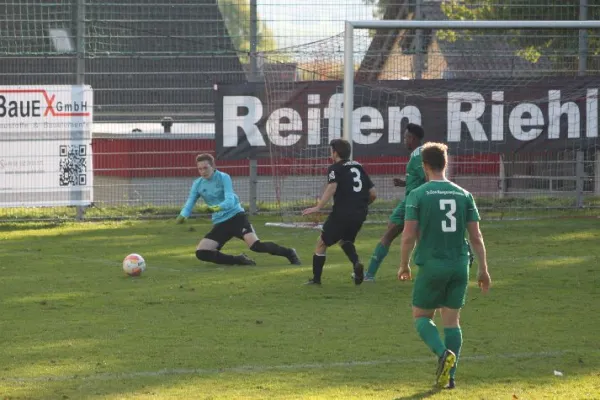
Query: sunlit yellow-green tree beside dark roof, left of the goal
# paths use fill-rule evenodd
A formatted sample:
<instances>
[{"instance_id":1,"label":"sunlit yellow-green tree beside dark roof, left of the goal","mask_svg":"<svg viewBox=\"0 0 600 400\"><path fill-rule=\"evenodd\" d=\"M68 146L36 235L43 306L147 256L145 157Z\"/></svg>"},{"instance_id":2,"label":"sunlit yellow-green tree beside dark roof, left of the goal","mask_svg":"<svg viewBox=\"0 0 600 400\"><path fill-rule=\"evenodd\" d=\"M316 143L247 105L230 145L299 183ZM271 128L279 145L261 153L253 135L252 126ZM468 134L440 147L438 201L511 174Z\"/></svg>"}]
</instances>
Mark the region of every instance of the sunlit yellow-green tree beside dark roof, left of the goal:
<instances>
[{"instance_id":1,"label":"sunlit yellow-green tree beside dark roof, left of the goal","mask_svg":"<svg viewBox=\"0 0 600 400\"><path fill-rule=\"evenodd\" d=\"M235 49L240 52L240 60L247 63L250 53L250 1L218 0L218 5L229 31L229 37ZM275 48L273 32L257 16L257 51L269 51Z\"/></svg>"}]
</instances>

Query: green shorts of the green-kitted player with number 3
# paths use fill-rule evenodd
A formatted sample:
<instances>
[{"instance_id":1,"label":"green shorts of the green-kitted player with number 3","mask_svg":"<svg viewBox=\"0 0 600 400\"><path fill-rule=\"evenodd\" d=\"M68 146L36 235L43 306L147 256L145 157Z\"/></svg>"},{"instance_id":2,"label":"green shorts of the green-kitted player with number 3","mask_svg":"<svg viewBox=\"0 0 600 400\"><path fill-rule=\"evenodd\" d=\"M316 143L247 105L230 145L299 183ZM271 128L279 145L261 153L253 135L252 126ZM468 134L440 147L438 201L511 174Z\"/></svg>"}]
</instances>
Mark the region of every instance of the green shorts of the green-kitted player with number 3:
<instances>
[{"instance_id":1,"label":"green shorts of the green-kitted player with number 3","mask_svg":"<svg viewBox=\"0 0 600 400\"><path fill-rule=\"evenodd\" d=\"M469 267L419 267L413 286L413 306L426 310L465 305Z\"/></svg>"}]
</instances>

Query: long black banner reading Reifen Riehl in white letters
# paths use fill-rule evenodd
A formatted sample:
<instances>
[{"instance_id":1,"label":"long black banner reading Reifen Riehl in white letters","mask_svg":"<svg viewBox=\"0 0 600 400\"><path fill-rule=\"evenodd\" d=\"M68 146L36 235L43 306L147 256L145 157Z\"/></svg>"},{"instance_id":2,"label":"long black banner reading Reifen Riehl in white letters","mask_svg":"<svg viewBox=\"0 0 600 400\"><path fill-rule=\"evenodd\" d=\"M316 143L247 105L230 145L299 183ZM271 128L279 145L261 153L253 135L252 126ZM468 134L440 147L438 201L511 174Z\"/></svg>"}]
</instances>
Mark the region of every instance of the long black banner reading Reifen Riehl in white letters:
<instances>
[{"instance_id":1,"label":"long black banner reading Reifen Riehl in white letters","mask_svg":"<svg viewBox=\"0 0 600 400\"><path fill-rule=\"evenodd\" d=\"M454 155L598 145L600 77L379 81L355 85L355 157L405 156L403 131ZM217 158L315 157L342 136L342 82L219 85Z\"/></svg>"}]
</instances>

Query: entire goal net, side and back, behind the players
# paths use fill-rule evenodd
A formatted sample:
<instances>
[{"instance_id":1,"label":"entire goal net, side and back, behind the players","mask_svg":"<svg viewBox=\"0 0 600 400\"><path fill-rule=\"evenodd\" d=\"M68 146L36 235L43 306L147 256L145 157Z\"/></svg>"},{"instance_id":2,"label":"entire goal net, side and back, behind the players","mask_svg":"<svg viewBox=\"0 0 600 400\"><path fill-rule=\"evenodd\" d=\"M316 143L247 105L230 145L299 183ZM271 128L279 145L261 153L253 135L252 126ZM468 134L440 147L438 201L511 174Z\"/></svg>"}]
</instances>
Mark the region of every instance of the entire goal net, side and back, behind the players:
<instances>
[{"instance_id":1,"label":"entire goal net, side and back, behind the players","mask_svg":"<svg viewBox=\"0 0 600 400\"><path fill-rule=\"evenodd\" d=\"M484 218L598 213L600 78L591 71L591 53L590 75L581 76L582 26L459 25L440 21L439 4L432 7L422 12L434 21L360 22L346 38L264 57L266 107L280 113L269 120L290 131L281 142L269 142L278 224L324 220L325 214L302 217L301 210L321 195L328 143L341 136L352 138L354 159L376 185L370 221L385 222L405 195L393 178L405 178L408 123L424 127L425 141L449 145L450 178L476 196ZM595 37L599 25L585 23ZM294 60L295 80L273 72L282 54ZM291 131L306 136L296 142Z\"/></svg>"}]
</instances>

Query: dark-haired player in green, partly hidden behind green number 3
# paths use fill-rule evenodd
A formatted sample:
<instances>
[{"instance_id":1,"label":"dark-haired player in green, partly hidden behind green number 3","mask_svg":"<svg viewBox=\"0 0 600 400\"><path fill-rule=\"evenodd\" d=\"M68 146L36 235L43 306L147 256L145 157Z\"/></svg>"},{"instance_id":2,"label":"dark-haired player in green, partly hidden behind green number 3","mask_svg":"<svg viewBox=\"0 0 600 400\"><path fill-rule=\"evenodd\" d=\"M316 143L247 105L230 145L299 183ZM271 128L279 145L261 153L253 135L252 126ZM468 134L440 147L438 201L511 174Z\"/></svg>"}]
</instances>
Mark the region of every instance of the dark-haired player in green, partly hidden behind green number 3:
<instances>
[{"instance_id":1,"label":"dark-haired player in green, partly hidden behind green number 3","mask_svg":"<svg viewBox=\"0 0 600 400\"><path fill-rule=\"evenodd\" d=\"M398 203L394 211L392 211L387 229L379 243L377 243L377 247L373 250L373 255L369 262L369 269L365 274L365 282L372 282L375 280L375 274L377 274L379 266L383 262L385 256L387 256L392 242L402 232L402 227L404 226L406 196L426 181L420 154L421 141L424 136L425 131L421 126L417 124L408 124L406 126L406 130L404 131L404 146L411 152L410 159L406 166L406 181L394 179L395 186L406 186L406 195L404 200Z\"/></svg>"}]
</instances>

